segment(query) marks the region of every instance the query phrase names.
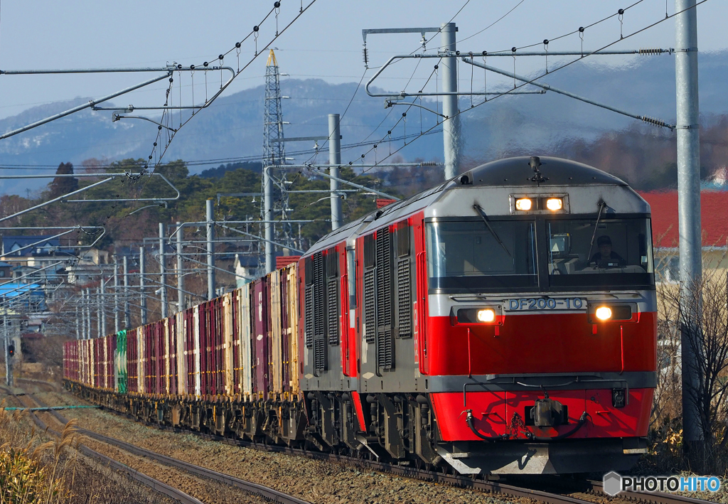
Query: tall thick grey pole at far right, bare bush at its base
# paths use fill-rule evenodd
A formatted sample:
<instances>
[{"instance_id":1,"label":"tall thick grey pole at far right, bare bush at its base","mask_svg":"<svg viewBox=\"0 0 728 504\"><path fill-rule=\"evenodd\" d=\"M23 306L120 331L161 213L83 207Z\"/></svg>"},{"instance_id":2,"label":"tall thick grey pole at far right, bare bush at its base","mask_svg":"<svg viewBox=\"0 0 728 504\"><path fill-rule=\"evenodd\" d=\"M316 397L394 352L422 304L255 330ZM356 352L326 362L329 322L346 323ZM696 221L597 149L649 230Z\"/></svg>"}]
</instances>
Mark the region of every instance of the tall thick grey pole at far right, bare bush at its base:
<instances>
[{"instance_id":1,"label":"tall thick grey pole at far right, bare bush at its base","mask_svg":"<svg viewBox=\"0 0 728 504\"><path fill-rule=\"evenodd\" d=\"M699 285L703 277L695 0L676 0L675 10L684 11L675 17L680 280L685 288L691 288ZM685 297L689 300L692 296ZM683 330L681 335L683 436L687 451L698 448L704 439L694 393L700 380L697 345L691 339L694 334L695 331Z\"/></svg>"}]
</instances>

